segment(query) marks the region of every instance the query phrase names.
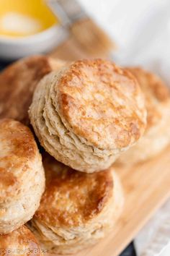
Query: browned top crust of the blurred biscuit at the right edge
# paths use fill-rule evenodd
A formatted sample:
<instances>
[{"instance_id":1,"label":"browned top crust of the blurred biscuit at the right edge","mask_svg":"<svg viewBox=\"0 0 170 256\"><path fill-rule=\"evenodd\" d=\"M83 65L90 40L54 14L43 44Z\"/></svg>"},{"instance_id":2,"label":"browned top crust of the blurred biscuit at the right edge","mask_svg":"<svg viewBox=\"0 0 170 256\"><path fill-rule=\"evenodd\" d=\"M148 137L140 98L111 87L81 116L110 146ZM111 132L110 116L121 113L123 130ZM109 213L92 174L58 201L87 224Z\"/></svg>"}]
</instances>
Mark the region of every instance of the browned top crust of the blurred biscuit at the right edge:
<instances>
[{"instance_id":1,"label":"browned top crust of the blurred biscuit at the right edge","mask_svg":"<svg viewBox=\"0 0 170 256\"><path fill-rule=\"evenodd\" d=\"M170 90L156 74L140 67L128 68L136 77L146 98L147 127L153 127L161 119L161 107L170 106ZM167 105L168 104L168 105Z\"/></svg>"}]
</instances>

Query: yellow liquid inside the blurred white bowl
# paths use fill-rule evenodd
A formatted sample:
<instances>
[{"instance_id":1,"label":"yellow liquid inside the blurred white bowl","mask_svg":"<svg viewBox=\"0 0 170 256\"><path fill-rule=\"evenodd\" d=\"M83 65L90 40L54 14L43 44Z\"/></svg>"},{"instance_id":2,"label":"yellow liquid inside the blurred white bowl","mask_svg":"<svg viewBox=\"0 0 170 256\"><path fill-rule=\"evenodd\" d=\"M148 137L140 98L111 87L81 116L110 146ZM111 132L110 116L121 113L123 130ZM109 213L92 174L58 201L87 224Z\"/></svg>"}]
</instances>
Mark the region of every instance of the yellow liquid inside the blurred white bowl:
<instances>
[{"instance_id":1,"label":"yellow liquid inside the blurred white bowl","mask_svg":"<svg viewBox=\"0 0 170 256\"><path fill-rule=\"evenodd\" d=\"M43 0L0 0L0 35L24 37L58 23Z\"/></svg>"}]
</instances>

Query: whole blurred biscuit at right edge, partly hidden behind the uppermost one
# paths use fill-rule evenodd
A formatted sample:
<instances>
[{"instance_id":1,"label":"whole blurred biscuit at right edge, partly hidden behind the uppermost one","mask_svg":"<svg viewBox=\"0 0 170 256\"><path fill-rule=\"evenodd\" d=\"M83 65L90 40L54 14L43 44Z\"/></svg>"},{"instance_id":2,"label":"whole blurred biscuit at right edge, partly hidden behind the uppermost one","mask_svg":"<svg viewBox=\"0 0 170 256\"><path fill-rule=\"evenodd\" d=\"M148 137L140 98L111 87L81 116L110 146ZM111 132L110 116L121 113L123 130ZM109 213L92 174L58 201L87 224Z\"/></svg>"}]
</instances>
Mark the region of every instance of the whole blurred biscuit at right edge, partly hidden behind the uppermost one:
<instances>
[{"instance_id":1,"label":"whole blurred biscuit at right edge, partly hidden behind the uppermost one","mask_svg":"<svg viewBox=\"0 0 170 256\"><path fill-rule=\"evenodd\" d=\"M123 153L117 162L137 163L160 153L170 142L170 91L164 82L141 68L130 68L146 98L146 132L138 143Z\"/></svg>"}]
</instances>

